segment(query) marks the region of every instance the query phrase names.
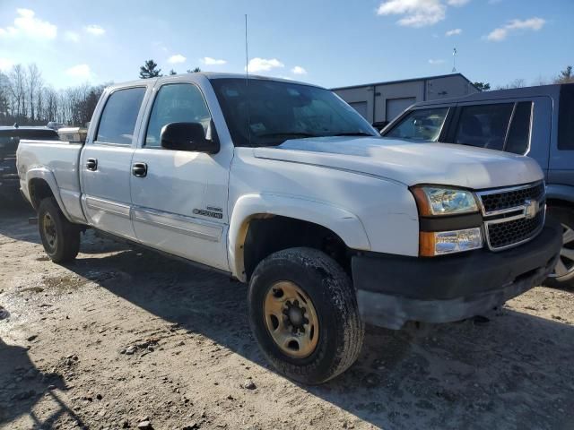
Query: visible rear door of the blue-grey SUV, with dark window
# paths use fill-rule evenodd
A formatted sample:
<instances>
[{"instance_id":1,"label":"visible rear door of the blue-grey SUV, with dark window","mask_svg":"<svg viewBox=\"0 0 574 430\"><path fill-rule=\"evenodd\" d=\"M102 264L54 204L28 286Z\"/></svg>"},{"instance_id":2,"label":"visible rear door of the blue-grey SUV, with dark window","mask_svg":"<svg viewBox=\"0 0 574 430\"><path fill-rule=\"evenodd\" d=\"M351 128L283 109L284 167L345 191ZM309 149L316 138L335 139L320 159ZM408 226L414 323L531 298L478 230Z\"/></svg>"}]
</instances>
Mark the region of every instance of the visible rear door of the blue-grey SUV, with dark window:
<instances>
[{"instance_id":1,"label":"visible rear door of the blue-grey SUV, with dark window","mask_svg":"<svg viewBox=\"0 0 574 430\"><path fill-rule=\"evenodd\" d=\"M526 155L547 175L551 121L547 97L460 103L446 141Z\"/></svg>"}]
</instances>

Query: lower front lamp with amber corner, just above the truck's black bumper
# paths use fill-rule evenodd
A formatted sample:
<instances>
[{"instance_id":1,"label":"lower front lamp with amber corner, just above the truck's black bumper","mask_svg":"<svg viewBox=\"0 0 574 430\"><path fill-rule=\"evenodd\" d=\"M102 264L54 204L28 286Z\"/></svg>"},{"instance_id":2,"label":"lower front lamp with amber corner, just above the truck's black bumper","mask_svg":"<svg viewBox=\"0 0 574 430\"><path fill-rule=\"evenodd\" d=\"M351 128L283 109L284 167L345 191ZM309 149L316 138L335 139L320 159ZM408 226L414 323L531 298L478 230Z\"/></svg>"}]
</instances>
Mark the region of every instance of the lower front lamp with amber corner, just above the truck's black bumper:
<instances>
[{"instance_id":1,"label":"lower front lamp with amber corner, just above the truck's black bumper","mask_svg":"<svg viewBox=\"0 0 574 430\"><path fill-rule=\"evenodd\" d=\"M423 257L461 253L483 247L480 228L452 231L422 231L419 254Z\"/></svg>"}]
</instances>

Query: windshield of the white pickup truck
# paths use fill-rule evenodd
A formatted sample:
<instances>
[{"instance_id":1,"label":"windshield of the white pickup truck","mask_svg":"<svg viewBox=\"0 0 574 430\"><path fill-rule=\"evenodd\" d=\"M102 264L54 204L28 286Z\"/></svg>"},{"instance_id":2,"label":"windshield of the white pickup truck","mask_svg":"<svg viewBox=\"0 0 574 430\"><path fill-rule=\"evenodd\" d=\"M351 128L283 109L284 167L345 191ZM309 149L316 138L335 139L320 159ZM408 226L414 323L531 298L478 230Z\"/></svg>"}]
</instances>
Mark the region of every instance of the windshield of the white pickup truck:
<instances>
[{"instance_id":1,"label":"windshield of the white pickup truck","mask_svg":"<svg viewBox=\"0 0 574 430\"><path fill-rule=\"evenodd\" d=\"M329 90L263 79L213 79L236 146L279 145L318 136L377 136L352 107Z\"/></svg>"}]
</instances>

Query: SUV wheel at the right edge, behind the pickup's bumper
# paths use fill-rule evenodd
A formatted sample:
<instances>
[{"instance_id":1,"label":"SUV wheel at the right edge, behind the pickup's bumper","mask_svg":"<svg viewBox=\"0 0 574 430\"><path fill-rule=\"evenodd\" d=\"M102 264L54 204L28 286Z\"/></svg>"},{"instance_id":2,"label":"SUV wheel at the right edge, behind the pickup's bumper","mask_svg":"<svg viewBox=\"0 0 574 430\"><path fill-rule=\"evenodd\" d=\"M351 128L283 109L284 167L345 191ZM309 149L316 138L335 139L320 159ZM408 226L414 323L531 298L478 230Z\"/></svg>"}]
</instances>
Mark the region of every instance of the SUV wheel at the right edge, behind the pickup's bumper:
<instances>
[{"instance_id":1,"label":"SUV wheel at the right edge, behind the pickup's bumper","mask_svg":"<svg viewBox=\"0 0 574 430\"><path fill-rule=\"evenodd\" d=\"M548 216L562 226L562 248L558 264L544 285L552 288L574 288L574 211L561 206L548 208Z\"/></svg>"}]
</instances>

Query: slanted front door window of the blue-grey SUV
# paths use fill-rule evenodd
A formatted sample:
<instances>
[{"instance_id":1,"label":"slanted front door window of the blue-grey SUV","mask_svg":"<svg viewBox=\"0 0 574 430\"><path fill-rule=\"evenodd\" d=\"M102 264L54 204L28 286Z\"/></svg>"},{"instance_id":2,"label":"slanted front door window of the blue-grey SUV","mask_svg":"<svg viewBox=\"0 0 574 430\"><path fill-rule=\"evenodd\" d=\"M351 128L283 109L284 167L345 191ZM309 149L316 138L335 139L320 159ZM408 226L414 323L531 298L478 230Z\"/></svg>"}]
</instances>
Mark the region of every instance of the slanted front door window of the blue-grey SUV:
<instances>
[{"instance_id":1,"label":"slanted front door window of the blue-grey SUV","mask_svg":"<svg viewBox=\"0 0 574 430\"><path fill-rule=\"evenodd\" d=\"M385 137L437 142L447 113L448 107L413 110L386 133Z\"/></svg>"}]
</instances>

